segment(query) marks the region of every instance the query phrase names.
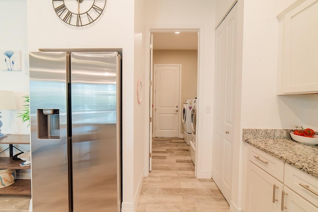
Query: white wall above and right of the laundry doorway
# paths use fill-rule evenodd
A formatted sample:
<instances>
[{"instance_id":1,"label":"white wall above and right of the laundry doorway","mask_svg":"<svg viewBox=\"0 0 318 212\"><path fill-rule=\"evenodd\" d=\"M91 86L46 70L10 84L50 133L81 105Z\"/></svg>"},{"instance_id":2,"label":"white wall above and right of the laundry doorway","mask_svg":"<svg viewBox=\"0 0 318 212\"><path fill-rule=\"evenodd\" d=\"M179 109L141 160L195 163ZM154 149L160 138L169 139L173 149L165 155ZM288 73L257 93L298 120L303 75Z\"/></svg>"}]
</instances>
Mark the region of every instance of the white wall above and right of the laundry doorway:
<instances>
[{"instance_id":1,"label":"white wall above and right of the laundry doorway","mask_svg":"<svg viewBox=\"0 0 318 212\"><path fill-rule=\"evenodd\" d=\"M214 43L215 4L214 1L196 0L146 0L146 41L149 31L160 29L199 29L199 71L198 71L198 144L197 177L212 176L212 129L214 89ZM148 36L148 37L147 37ZM146 46L147 49L147 46ZM147 54L148 52L146 52ZM147 57L146 57L147 62ZM148 63L149 66L149 63ZM147 63L146 63L147 67ZM146 70L147 73L147 70ZM148 75L147 75L148 76ZM147 85L147 84L146 84ZM147 96L149 99L149 96Z\"/></svg>"}]
</instances>

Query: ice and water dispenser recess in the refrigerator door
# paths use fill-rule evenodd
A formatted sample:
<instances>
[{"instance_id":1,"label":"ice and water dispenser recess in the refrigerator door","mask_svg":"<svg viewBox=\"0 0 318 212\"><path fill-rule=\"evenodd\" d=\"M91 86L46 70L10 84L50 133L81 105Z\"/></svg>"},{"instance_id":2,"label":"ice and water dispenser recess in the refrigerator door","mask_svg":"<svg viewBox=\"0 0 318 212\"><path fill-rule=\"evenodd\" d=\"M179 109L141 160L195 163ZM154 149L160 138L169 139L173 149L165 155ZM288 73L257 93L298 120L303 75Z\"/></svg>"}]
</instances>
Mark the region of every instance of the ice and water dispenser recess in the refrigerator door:
<instances>
[{"instance_id":1,"label":"ice and water dispenser recess in the refrigerator door","mask_svg":"<svg viewBox=\"0 0 318 212\"><path fill-rule=\"evenodd\" d=\"M37 109L38 139L60 139L60 110Z\"/></svg>"}]
</instances>

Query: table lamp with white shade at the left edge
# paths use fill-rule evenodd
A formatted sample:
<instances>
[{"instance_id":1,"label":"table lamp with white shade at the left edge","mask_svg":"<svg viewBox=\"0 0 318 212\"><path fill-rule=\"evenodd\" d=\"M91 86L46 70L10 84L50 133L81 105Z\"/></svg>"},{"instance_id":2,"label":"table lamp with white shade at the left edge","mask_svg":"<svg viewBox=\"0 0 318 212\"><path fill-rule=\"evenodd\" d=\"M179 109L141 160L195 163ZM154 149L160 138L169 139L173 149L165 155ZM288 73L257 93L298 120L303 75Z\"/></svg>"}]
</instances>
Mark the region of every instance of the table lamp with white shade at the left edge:
<instances>
[{"instance_id":1,"label":"table lamp with white shade at the left edge","mask_svg":"<svg viewBox=\"0 0 318 212\"><path fill-rule=\"evenodd\" d=\"M0 113L2 110L14 110L16 109L15 104L15 97L13 91L8 90L0 90ZM5 137L6 135L3 135L1 133L1 115L0 115L0 138Z\"/></svg>"}]
</instances>

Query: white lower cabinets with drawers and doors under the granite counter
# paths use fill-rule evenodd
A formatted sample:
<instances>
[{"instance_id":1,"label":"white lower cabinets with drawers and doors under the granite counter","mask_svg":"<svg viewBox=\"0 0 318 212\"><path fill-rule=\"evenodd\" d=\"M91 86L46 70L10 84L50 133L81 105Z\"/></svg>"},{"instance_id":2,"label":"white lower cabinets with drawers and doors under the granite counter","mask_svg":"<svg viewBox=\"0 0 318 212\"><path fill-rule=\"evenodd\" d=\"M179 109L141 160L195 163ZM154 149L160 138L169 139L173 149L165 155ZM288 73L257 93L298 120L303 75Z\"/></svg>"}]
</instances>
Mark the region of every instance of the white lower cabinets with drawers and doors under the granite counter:
<instances>
[{"instance_id":1,"label":"white lower cabinets with drawers and doors under the granite counter","mask_svg":"<svg viewBox=\"0 0 318 212\"><path fill-rule=\"evenodd\" d=\"M250 145L247 151L244 212L318 212L317 178Z\"/></svg>"}]
</instances>

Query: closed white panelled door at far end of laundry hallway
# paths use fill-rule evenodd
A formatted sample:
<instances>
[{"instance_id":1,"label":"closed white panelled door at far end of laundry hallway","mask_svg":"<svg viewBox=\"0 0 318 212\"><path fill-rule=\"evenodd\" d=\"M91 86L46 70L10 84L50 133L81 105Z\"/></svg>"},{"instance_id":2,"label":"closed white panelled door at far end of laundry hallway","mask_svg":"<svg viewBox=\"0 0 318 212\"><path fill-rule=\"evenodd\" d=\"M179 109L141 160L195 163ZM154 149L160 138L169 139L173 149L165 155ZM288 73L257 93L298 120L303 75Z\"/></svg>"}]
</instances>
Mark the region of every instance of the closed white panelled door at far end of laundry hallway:
<instances>
[{"instance_id":1,"label":"closed white panelled door at far end of laundry hallway","mask_svg":"<svg viewBox=\"0 0 318 212\"><path fill-rule=\"evenodd\" d=\"M155 136L178 137L181 65L155 64Z\"/></svg>"}]
</instances>

